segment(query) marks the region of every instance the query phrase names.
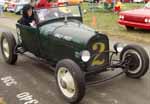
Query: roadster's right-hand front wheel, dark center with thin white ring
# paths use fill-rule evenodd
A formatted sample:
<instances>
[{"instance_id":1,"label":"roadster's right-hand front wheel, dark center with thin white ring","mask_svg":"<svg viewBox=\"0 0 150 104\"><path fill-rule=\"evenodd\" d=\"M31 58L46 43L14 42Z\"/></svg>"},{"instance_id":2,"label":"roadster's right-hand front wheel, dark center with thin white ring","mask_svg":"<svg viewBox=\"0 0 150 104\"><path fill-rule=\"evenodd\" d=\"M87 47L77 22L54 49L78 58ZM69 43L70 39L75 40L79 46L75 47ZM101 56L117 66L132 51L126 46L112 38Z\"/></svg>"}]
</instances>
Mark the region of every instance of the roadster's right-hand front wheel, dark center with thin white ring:
<instances>
[{"instance_id":1,"label":"roadster's right-hand front wheel, dark center with thin white ring","mask_svg":"<svg viewBox=\"0 0 150 104\"><path fill-rule=\"evenodd\" d=\"M128 61L128 77L141 78L149 69L149 56L145 49L138 45L127 45L120 53L120 58L122 61Z\"/></svg>"}]
</instances>

